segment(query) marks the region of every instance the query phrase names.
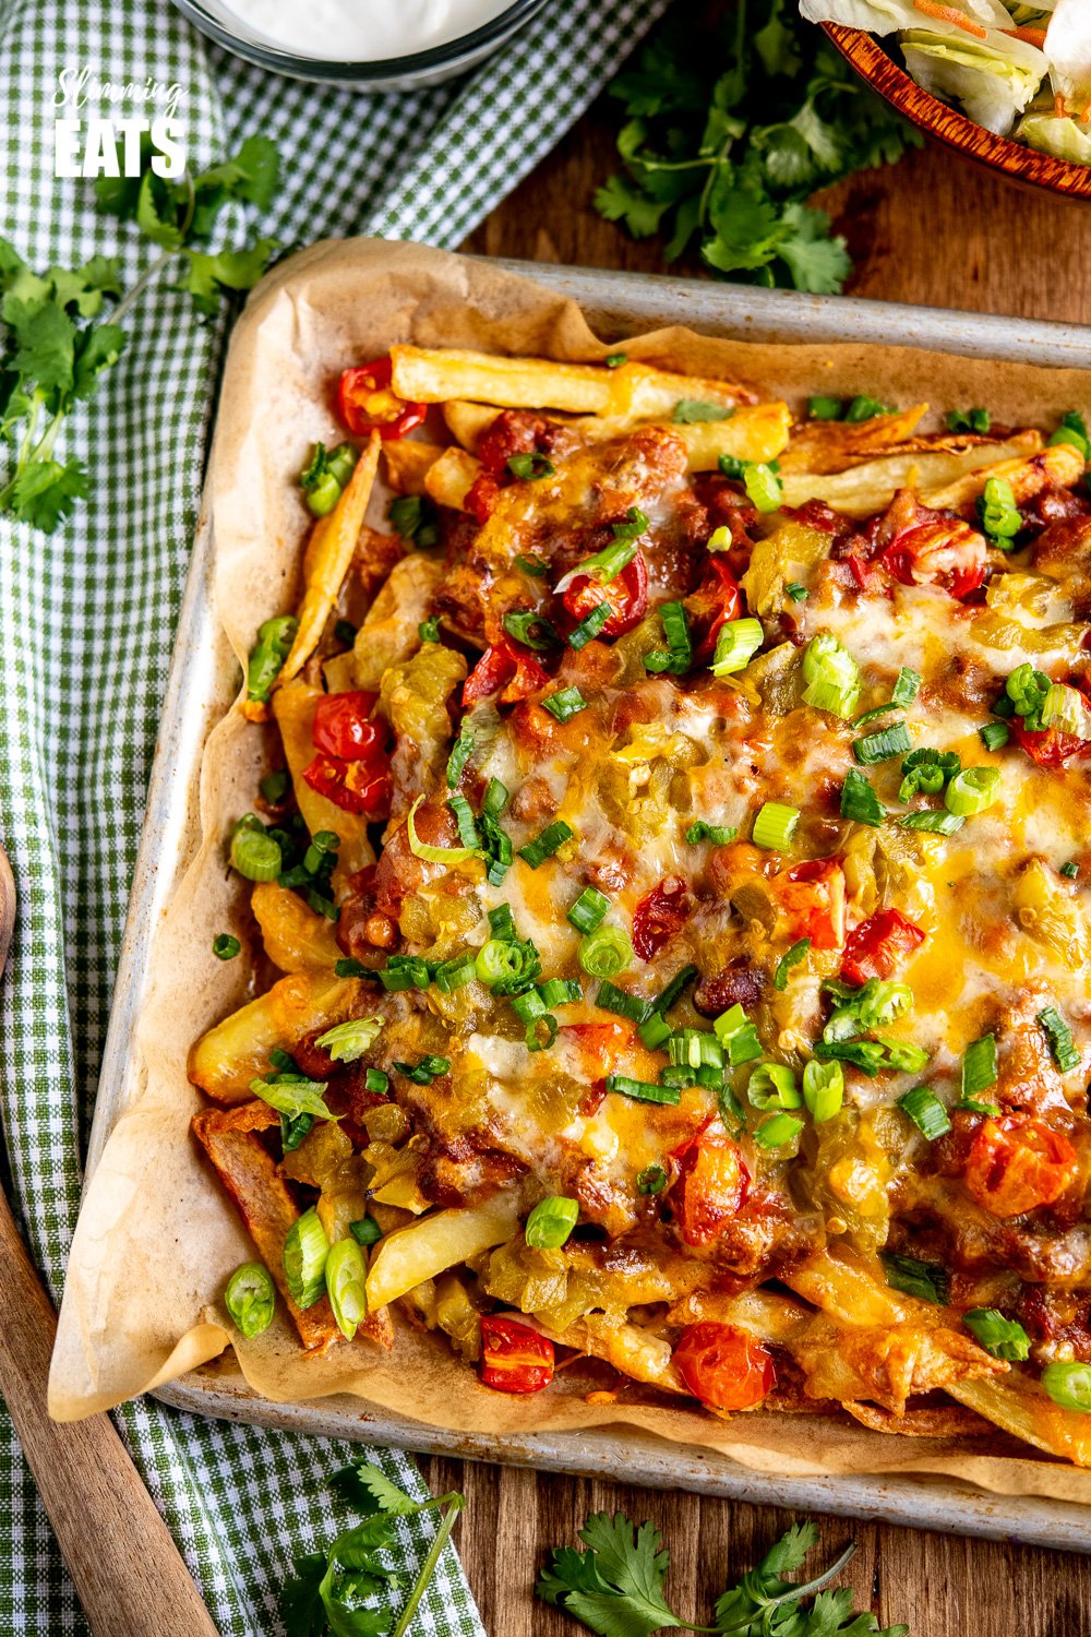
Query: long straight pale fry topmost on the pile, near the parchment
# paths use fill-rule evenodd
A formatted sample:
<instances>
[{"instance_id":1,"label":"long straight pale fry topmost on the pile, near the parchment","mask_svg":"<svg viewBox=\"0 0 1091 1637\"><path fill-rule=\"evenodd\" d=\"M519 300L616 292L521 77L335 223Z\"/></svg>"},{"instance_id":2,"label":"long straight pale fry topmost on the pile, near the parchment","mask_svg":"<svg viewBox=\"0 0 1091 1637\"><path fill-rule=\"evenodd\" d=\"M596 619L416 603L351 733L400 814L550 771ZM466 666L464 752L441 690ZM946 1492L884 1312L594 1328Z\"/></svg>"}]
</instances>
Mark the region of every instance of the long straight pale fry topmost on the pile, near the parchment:
<instances>
[{"instance_id":1,"label":"long straight pale fry topmost on the pile, near the parchment","mask_svg":"<svg viewBox=\"0 0 1091 1637\"><path fill-rule=\"evenodd\" d=\"M571 409L625 417L669 416L682 398L733 408L754 403L738 381L672 375L648 363L551 363L456 349L391 347L393 388L417 403L469 398L507 409Z\"/></svg>"}]
</instances>

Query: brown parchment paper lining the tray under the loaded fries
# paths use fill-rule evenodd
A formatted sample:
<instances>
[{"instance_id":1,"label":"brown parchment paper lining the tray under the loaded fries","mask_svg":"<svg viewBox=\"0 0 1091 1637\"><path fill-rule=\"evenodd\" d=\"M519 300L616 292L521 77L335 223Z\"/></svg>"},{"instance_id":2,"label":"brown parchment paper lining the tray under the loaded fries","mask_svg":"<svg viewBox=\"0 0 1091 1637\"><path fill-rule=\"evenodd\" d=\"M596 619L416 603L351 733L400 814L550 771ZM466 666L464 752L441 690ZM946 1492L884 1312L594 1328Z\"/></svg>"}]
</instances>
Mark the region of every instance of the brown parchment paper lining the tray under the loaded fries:
<instances>
[{"instance_id":1,"label":"brown parchment paper lining the tray under the loaded fries","mask_svg":"<svg viewBox=\"0 0 1091 1637\"><path fill-rule=\"evenodd\" d=\"M347 362L397 340L571 360L610 350L572 303L486 262L357 239L317 244L278 267L254 291L231 342L208 488L216 606L239 663L257 625L290 606L308 530L296 476L314 440L340 435L327 383ZM757 345L666 329L626 339L625 350L674 370L741 377L764 396L870 393L900 404L927 399L944 411L980 403L1011 424L1045 427L1091 401L1083 372L893 345ZM226 689L232 670L224 648ZM206 742L204 840L154 936L150 995L136 1033L146 1090L105 1148L69 1260L49 1383L59 1419L110 1408L231 1346L219 1293L254 1251L190 1138L203 1098L185 1064L193 1041L245 999L244 963L214 961L209 946L236 900L222 838L250 807L260 738L231 709ZM195 794L178 791L177 799ZM309 1357L283 1313L265 1336L236 1349L250 1385L280 1401L355 1393L430 1426L499 1437L592 1424L613 1424L623 1437L628 1424L765 1472L945 1472L1001 1493L1091 1501L1091 1472L1027 1455L1001 1434L957 1442L870 1432L847 1416L757 1411L721 1421L625 1400L589 1406L564 1375L545 1393L507 1398L483 1388L443 1339L402 1323L393 1354L357 1342Z\"/></svg>"}]
</instances>

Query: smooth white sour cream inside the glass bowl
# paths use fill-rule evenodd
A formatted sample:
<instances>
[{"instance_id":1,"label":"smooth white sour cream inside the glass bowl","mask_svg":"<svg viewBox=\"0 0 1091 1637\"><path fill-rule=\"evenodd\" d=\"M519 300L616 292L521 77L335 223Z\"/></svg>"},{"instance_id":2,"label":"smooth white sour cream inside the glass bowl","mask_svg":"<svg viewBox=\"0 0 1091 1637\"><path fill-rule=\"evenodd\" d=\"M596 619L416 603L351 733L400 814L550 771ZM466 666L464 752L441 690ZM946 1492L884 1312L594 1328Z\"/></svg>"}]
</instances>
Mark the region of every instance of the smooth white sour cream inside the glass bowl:
<instances>
[{"instance_id":1,"label":"smooth white sour cream inside the glass bowl","mask_svg":"<svg viewBox=\"0 0 1091 1637\"><path fill-rule=\"evenodd\" d=\"M512 0L208 0L232 29L265 46L332 62L384 62L445 46ZM239 28L242 25L242 29Z\"/></svg>"}]
</instances>

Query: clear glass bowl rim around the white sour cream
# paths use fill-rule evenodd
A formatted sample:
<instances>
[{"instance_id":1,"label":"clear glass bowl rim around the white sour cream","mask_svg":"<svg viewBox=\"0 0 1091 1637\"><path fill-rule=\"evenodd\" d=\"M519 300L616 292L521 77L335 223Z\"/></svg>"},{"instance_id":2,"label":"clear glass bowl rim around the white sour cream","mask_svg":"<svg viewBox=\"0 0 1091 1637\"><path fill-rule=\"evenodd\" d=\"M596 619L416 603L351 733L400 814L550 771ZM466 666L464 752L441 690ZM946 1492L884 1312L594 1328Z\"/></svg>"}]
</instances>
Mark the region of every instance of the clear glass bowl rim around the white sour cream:
<instances>
[{"instance_id":1,"label":"clear glass bowl rim around the white sour cream","mask_svg":"<svg viewBox=\"0 0 1091 1637\"><path fill-rule=\"evenodd\" d=\"M211 3L209 0L173 0L173 3L203 34L237 57L255 62L260 69L286 74L294 80L340 85L345 90L402 92L422 85L438 85L440 80L465 74L466 69L483 62L512 34L519 33L546 0L512 0L512 5L507 5L499 16L474 28L469 34L448 39L442 46L430 46L427 51L415 51L404 57L383 57L376 62L303 57L293 51L281 51L254 34L242 18L236 20L229 15L227 3L222 7L216 0ZM391 0L391 3L396 5L397 0Z\"/></svg>"}]
</instances>

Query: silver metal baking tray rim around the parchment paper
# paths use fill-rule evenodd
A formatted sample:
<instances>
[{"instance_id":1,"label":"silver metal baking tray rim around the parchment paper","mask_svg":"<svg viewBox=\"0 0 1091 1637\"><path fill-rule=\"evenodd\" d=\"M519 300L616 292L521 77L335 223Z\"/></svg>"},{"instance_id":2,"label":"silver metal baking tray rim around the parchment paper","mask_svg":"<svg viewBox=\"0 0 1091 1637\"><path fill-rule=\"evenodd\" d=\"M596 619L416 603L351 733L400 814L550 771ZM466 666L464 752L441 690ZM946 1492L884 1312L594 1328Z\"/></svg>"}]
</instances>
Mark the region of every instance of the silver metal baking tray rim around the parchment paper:
<instances>
[{"instance_id":1,"label":"silver metal baking tray rim around the parchment paper","mask_svg":"<svg viewBox=\"0 0 1091 1637\"><path fill-rule=\"evenodd\" d=\"M901 345L973 359L1091 368L1091 329L1073 324L530 262L497 265L574 298L595 332L608 340L623 340L659 326L687 324L710 336L748 340L890 344L896 339ZM234 663L224 663L224 637L213 614L211 563L211 522L203 509L178 620L121 946L90 1134L88 1177L111 1130L142 1090L142 1071L132 1041L147 994L150 948L164 909L196 853L200 837L193 792L204 740L234 697ZM990 1495L947 1477L780 1478L752 1472L715 1450L672 1444L635 1427L626 1427L623 1437L612 1429L592 1427L507 1436L501 1441L487 1434L422 1426L375 1411L363 1400L347 1395L303 1405L275 1405L250 1391L231 1355L159 1388L155 1396L195 1414L316 1436L1091 1552L1088 1513L1075 1503Z\"/></svg>"}]
</instances>

